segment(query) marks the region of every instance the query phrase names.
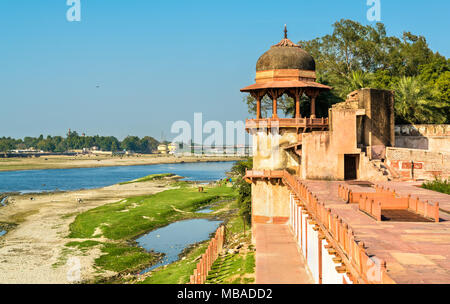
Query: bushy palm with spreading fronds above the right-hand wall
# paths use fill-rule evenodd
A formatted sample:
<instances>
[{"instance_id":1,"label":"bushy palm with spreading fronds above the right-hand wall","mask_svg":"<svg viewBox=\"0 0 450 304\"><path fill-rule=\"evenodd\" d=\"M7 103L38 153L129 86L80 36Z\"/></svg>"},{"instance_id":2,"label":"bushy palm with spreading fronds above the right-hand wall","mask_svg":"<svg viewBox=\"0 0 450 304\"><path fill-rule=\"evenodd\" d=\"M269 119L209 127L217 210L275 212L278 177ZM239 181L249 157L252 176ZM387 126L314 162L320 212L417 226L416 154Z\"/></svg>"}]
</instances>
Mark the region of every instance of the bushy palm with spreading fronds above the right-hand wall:
<instances>
[{"instance_id":1,"label":"bushy palm with spreading fronds above the right-hand wall","mask_svg":"<svg viewBox=\"0 0 450 304\"><path fill-rule=\"evenodd\" d=\"M444 123L446 118L431 92L416 78L403 77L395 86L397 119L406 123Z\"/></svg>"}]
</instances>

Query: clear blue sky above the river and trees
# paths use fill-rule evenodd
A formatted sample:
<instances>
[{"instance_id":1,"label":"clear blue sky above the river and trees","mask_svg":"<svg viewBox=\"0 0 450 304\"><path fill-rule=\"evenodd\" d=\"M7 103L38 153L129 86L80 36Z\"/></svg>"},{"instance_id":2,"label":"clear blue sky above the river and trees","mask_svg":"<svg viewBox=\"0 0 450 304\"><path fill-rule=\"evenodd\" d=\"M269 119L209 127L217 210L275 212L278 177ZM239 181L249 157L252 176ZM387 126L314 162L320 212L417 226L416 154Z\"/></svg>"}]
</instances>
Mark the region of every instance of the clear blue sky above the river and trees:
<instances>
[{"instance_id":1,"label":"clear blue sky above the river and trees","mask_svg":"<svg viewBox=\"0 0 450 304\"><path fill-rule=\"evenodd\" d=\"M282 38L331 33L342 18L364 24L366 0L81 0L68 22L66 0L0 1L0 137L150 135L176 120L244 120L239 89ZM427 37L450 55L450 2L381 0L389 35ZM100 85L99 88L96 86Z\"/></svg>"}]
</instances>

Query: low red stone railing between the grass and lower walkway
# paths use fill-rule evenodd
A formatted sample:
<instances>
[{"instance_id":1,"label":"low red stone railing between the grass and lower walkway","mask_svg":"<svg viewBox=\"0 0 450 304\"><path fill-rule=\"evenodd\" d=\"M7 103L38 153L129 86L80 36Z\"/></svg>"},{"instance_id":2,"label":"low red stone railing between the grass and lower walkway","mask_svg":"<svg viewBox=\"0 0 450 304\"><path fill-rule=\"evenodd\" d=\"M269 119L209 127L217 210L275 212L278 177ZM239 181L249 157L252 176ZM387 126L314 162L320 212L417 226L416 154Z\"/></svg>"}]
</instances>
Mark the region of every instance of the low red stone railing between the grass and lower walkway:
<instances>
[{"instance_id":1,"label":"low red stone railing between the grass and lower walkway","mask_svg":"<svg viewBox=\"0 0 450 304\"><path fill-rule=\"evenodd\" d=\"M190 277L189 284L204 284L212 265L223 251L225 243L225 226L220 226L216 231L215 237L209 242L208 249L197 263L194 274Z\"/></svg>"}]
</instances>

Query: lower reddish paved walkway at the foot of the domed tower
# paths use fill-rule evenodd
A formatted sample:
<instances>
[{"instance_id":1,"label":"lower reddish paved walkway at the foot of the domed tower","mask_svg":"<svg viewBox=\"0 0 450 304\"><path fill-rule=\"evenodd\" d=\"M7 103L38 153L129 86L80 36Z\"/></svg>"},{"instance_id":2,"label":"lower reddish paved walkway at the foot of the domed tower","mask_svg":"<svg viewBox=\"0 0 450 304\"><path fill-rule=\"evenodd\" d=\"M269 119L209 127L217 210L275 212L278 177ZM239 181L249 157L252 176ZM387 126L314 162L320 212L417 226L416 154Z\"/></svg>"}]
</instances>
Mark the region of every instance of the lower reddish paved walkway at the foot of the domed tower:
<instances>
[{"instance_id":1,"label":"lower reddish paved walkway at the foot of the domed tower","mask_svg":"<svg viewBox=\"0 0 450 304\"><path fill-rule=\"evenodd\" d=\"M256 224L256 284L312 284L286 225Z\"/></svg>"}]
</instances>

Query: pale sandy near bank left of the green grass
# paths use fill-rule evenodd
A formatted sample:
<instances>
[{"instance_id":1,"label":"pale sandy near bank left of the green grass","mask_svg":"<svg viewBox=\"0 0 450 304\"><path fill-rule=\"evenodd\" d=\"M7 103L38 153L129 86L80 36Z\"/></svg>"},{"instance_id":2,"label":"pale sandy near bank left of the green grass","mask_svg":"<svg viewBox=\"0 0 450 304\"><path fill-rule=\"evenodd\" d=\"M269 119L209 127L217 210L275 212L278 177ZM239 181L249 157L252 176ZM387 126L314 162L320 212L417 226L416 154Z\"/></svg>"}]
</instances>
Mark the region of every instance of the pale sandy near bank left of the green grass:
<instances>
[{"instance_id":1,"label":"pale sandy near bank left of the green grass","mask_svg":"<svg viewBox=\"0 0 450 304\"><path fill-rule=\"evenodd\" d=\"M169 188L169 181L162 180L10 197L12 203L0 208L0 222L18 226L0 238L0 283L70 283L67 280L70 265L54 265L61 263L64 245L77 241L67 238L69 225L77 214L127 197L155 194ZM78 199L83 202L78 203ZM102 241L102 238L95 240ZM87 254L73 252L69 257L81 261L82 280L88 280L95 275L94 260L100 255L100 250L92 250Z\"/></svg>"}]
</instances>

